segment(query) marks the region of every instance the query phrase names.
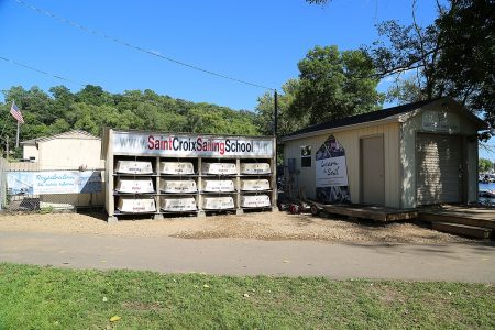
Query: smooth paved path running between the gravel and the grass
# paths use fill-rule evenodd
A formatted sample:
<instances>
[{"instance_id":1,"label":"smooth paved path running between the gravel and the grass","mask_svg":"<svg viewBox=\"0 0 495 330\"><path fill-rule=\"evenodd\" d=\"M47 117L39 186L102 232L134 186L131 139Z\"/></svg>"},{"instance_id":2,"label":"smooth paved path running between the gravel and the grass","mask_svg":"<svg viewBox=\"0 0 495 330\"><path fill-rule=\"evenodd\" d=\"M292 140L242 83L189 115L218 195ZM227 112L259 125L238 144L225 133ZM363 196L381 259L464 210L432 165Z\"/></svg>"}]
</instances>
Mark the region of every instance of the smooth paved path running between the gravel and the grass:
<instances>
[{"instance_id":1,"label":"smooth paved path running between the gravel and the grass","mask_svg":"<svg viewBox=\"0 0 495 330\"><path fill-rule=\"evenodd\" d=\"M164 273L495 283L495 244L329 244L0 232L0 261Z\"/></svg>"}]
</instances>

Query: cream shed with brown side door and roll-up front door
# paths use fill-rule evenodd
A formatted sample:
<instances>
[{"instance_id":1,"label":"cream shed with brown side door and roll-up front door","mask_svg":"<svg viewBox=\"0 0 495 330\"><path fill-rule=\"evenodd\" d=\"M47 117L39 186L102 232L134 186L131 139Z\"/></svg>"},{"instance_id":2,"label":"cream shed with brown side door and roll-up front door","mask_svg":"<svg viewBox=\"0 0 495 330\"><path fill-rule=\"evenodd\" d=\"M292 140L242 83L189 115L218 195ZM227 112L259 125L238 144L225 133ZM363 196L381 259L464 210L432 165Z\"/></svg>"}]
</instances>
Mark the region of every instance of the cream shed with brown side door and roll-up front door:
<instances>
[{"instance_id":1,"label":"cream shed with brown side door and roll-up front door","mask_svg":"<svg viewBox=\"0 0 495 330\"><path fill-rule=\"evenodd\" d=\"M484 128L451 98L420 101L286 135L284 162L293 191L314 199L342 186L338 194L349 194L353 204L414 208L471 202L477 200L476 134ZM341 154L328 158L336 162L324 161L322 153L330 157L329 148L336 146ZM330 178L334 173L328 166L346 173L341 168L339 178Z\"/></svg>"}]
</instances>

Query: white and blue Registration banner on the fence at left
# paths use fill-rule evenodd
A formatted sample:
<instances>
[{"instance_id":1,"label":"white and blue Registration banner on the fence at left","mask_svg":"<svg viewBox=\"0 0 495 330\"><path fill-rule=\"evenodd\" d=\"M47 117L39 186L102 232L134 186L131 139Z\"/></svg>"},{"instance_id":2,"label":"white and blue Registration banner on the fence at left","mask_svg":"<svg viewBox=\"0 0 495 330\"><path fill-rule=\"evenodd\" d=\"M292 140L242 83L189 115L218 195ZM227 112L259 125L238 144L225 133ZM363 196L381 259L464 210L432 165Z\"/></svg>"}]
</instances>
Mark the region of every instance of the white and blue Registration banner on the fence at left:
<instances>
[{"instance_id":1,"label":"white and blue Registration banner on the fence at left","mask_svg":"<svg viewBox=\"0 0 495 330\"><path fill-rule=\"evenodd\" d=\"M8 172L9 195L89 194L102 191L100 170Z\"/></svg>"}]
</instances>

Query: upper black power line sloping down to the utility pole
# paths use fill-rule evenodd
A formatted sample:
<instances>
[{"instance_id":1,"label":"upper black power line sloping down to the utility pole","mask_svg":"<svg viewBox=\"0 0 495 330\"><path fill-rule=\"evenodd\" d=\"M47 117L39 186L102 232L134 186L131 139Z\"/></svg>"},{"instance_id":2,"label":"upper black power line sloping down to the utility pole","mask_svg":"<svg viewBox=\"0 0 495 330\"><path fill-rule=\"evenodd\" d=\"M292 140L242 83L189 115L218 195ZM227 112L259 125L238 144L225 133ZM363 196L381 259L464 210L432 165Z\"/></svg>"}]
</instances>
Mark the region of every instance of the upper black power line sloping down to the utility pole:
<instances>
[{"instance_id":1,"label":"upper black power line sloping down to the utility pole","mask_svg":"<svg viewBox=\"0 0 495 330\"><path fill-rule=\"evenodd\" d=\"M145 50L145 48L143 48L141 46L138 46L138 45L134 45L134 44L130 44L128 42L121 41L121 40L119 40L117 37L112 37L112 36L108 35L108 34L105 34L105 33L99 32L97 30L89 29L89 28L87 28L85 25L81 25L81 24L75 22L75 21L68 20L68 19L63 18L61 15L57 15L57 14L51 12L51 11L47 11L47 10L34 7L33 4L28 3L28 2L25 2L23 0L14 0L14 1L18 2L19 4L23 6L23 7L28 8L28 9L34 10L37 13L47 15L47 16L50 16L52 19L55 19L57 21L61 21L61 22L63 22L65 24L72 25L74 28L77 28L77 29L79 29L79 30L81 30L81 31L84 31L86 33L94 34L94 35L99 35L99 36L103 37L107 41L110 41L110 42L123 45L123 46L129 47L129 48L133 48L135 51L139 51L139 52L142 52L142 53L145 53L145 54L158 57L161 59L165 59L165 61L175 63L177 65L182 65L182 66L188 67L190 69L195 69L195 70L198 70L198 72L201 72L201 73L205 73L205 74L208 74L208 75L212 75L212 76L216 76L216 77L219 77L219 78L232 80L232 81L235 81L235 82L240 82L240 84L244 84L244 85L249 85L249 86L253 86L253 87L257 87L257 88L262 88L262 89L275 90L272 87L267 87L267 86L263 86L263 85L260 85L260 84L254 84L254 82L250 82L250 81L246 81L246 80L238 79L238 78L234 78L232 76L219 74L219 73L216 73L216 72L212 72L212 70L209 70L209 69L201 68L201 67L196 66L196 65L191 65L191 64L188 64L188 63L185 63L185 62L182 62L182 61L168 57L168 56L161 55L161 54L158 54L156 52Z\"/></svg>"}]
</instances>

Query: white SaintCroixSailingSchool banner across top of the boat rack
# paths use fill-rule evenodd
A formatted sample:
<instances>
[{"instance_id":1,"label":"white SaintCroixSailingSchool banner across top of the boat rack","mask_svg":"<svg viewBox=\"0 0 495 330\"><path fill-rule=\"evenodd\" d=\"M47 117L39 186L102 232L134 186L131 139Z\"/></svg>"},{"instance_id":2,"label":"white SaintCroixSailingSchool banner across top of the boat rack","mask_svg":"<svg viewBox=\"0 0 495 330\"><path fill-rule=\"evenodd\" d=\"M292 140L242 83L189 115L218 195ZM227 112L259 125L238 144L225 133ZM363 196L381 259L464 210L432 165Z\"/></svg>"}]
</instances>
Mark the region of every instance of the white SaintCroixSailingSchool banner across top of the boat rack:
<instances>
[{"instance_id":1,"label":"white SaintCroixSailingSchool banner across top of the boat rack","mask_svg":"<svg viewBox=\"0 0 495 330\"><path fill-rule=\"evenodd\" d=\"M162 156L272 157L273 140L246 136L175 135L113 132L113 153Z\"/></svg>"}]
</instances>

